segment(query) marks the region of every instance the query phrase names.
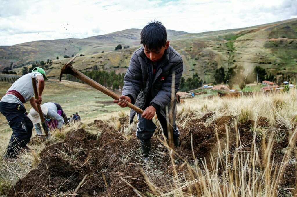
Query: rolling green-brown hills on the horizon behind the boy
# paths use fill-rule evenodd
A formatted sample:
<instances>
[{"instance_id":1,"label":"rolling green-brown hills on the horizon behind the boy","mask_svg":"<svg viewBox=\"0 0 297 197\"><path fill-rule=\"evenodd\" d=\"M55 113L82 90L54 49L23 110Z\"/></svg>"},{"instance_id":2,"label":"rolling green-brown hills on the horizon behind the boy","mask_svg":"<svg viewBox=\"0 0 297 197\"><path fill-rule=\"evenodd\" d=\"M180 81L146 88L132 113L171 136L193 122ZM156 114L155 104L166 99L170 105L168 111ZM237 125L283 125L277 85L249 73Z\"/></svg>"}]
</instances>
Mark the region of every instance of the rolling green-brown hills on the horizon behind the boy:
<instances>
[{"instance_id":1,"label":"rolling green-brown hills on the horizon behind the boy","mask_svg":"<svg viewBox=\"0 0 297 197\"><path fill-rule=\"evenodd\" d=\"M73 63L79 70L125 72L131 54L140 46L140 31L127 29L84 39L0 46L0 70L6 67L21 73L23 66L50 59L53 63L48 66L48 75L58 77L61 65L69 60L63 56L79 53L83 56ZM297 75L297 19L204 33L168 30L168 40L183 57L185 77L197 72L211 82L216 68L235 65L242 65L248 72L261 66L273 74ZM129 48L114 51L118 44Z\"/></svg>"}]
</instances>

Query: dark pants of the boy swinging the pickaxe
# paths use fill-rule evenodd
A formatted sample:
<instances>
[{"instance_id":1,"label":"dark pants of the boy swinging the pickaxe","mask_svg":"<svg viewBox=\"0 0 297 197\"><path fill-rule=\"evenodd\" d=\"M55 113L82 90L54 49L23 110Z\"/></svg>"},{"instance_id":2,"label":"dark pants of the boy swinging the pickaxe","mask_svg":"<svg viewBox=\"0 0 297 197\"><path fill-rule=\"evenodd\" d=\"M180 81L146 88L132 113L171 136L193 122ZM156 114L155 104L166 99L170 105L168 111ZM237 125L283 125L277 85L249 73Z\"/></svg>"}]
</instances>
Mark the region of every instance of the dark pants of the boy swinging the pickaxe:
<instances>
[{"instance_id":1,"label":"dark pants of the boy swinging the pickaxe","mask_svg":"<svg viewBox=\"0 0 297 197\"><path fill-rule=\"evenodd\" d=\"M164 135L168 138L168 129L167 129L167 120L165 117L157 112L157 117L161 125L161 129L163 130ZM141 114L137 113L137 128L136 128L136 136L142 143L148 143L151 140L151 137L154 135L155 129L157 126L154 124L152 120L146 120L141 117ZM178 138L178 128L174 123L173 126L173 139Z\"/></svg>"}]
</instances>

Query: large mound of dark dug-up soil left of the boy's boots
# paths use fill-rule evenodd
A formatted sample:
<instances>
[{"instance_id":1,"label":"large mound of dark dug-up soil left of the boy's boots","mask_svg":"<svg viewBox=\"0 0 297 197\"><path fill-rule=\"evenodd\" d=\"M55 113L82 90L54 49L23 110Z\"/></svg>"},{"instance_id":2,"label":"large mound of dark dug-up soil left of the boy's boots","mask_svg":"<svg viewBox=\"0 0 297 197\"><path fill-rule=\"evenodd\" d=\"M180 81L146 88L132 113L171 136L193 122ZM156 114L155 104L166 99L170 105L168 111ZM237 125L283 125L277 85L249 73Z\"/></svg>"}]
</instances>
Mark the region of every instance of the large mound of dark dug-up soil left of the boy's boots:
<instances>
[{"instance_id":1,"label":"large mound of dark dug-up soil left of the boy's boots","mask_svg":"<svg viewBox=\"0 0 297 197\"><path fill-rule=\"evenodd\" d=\"M87 177L76 195L137 196L124 180L141 192L149 190L139 166L134 164L138 160L133 155L122 158L122 153L128 153L138 141L135 138L125 141L121 134L103 122L95 121L95 124L99 130L104 129L98 140L97 135L83 129L68 133L63 142L50 145L41 152L42 162L20 179L8 196L71 193L85 175Z\"/></svg>"}]
</instances>

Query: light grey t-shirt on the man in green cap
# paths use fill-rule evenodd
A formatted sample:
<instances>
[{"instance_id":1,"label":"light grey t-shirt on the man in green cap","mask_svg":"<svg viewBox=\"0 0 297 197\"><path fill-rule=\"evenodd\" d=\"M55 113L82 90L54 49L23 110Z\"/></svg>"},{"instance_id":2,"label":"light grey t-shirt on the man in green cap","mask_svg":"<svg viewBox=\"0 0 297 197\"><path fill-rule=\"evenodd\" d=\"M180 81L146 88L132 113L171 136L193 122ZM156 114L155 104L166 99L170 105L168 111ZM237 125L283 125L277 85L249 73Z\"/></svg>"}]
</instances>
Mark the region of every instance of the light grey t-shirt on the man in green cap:
<instances>
[{"instance_id":1,"label":"light grey t-shirt on the man in green cap","mask_svg":"<svg viewBox=\"0 0 297 197\"><path fill-rule=\"evenodd\" d=\"M15 83L13 83L7 91L9 90L18 91L24 97L25 102L29 101L34 96L31 76L37 77L38 75L42 76L40 72L31 72L26 75L23 75L18 80L16 80ZM36 79L36 86L37 86L37 79ZM12 94L5 94L2 97L1 101L23 105L20 99L18 99L18 97Z\"/></svg>"}]
</instances>

